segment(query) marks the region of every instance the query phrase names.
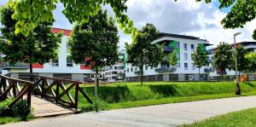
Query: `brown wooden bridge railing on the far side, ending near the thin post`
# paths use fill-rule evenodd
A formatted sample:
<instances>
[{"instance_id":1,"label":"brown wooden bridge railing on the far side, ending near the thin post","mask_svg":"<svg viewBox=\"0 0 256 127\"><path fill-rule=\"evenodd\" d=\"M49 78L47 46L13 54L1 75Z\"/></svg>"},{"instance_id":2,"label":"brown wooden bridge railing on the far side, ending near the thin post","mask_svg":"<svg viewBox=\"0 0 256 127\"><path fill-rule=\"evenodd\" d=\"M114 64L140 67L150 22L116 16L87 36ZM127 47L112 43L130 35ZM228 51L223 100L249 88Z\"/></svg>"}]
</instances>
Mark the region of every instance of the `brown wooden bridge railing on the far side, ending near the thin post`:
<instances>
[{"instance_id":1,"label":"brown wooden bridge railing on the far side, ending near the thin post","mask_svg":"<svg viewBox=\"0 0 256 127\"><path fill-rule=\"evenodd\" d=\"M38 88L39 94L42 98L55 101L55 103L62 104L63 106L78 108L80 92L87 101L93 103L88 95L85 94L83 89L80 88L79 84L83 83L79 81L73 81L63 78L48 78L44 76L35 76L35 78L37 78L37 80L35 81L33 88ZM67 88L65 84L67 84ZM74 99L73 95L71 95L70 92L70 90L72 90L73 88ZM62 92L60 89L62 90ZM63 98L64 95L67 95L67 97Z\"/></svg>"}]
</instances>

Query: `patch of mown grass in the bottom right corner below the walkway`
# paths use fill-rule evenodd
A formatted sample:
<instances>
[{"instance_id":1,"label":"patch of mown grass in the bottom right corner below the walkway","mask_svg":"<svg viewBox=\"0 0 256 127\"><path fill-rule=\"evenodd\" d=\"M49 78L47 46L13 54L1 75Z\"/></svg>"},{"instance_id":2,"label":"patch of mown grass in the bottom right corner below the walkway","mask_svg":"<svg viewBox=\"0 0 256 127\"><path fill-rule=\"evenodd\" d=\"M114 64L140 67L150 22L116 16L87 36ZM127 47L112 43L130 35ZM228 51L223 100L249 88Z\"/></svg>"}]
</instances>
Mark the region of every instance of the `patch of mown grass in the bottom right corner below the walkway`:
<instances>
[{"instance_id":1,"label":"patch of mown grass in the bottom right corner below the walkway","mask_svg":"<svg viewBox=\"0 0 256 127\"><path fill-rule=\"evenodd\" d=\"M183 127L253 127L256 125L256 108L227 113Z\"/></svg>"}]
</instances>

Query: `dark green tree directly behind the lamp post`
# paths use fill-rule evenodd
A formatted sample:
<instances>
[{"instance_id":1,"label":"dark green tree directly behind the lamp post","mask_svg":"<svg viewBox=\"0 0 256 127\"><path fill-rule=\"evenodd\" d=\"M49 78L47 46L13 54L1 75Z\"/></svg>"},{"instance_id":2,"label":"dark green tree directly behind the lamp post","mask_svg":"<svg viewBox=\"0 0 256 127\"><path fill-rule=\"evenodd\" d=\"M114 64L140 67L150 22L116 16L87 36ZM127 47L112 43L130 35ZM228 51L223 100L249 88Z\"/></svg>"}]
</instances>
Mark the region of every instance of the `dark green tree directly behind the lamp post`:
<instances>
[{"instance_id":1,"label":"dark green tree directly behind the lamp post","mask_svg":"<svg viewBox=\"0 0 256 127\"><path fill-rule=\"evenodd\" d=\"M239 72L239 76L240 76L241 72L247 70L249 61L247 60L245 55L247 55L247 49L244 49L241 44L238 44L236 46L236 61L237 61L237 71ZM235 60L235 52L233 54L232 59ZM236 71L235 62L233 62L231 68L232 68L232 70Z\"/></svg>"}]
</instances>

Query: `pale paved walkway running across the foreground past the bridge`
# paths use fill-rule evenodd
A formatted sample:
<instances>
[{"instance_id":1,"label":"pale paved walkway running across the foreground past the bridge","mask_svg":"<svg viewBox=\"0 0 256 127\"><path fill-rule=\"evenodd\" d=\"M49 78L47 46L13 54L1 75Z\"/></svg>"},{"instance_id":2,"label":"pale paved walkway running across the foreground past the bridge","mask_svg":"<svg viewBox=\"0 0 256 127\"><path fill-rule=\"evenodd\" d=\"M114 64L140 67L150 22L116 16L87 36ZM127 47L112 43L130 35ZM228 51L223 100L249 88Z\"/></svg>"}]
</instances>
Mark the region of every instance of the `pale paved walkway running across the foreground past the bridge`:
<instances>
[{"instance_id":1,"label":"pale paved walkway running across the foreground past the bridge","mask_svg":"<svg viewBox=\"0 0 256 127\"><path fill-rule=\"evenodd\" d=\"M256 96L80 113L5 124L3 127L178 126L251 107L256 107Z\"/></svg>"}]
</instances>

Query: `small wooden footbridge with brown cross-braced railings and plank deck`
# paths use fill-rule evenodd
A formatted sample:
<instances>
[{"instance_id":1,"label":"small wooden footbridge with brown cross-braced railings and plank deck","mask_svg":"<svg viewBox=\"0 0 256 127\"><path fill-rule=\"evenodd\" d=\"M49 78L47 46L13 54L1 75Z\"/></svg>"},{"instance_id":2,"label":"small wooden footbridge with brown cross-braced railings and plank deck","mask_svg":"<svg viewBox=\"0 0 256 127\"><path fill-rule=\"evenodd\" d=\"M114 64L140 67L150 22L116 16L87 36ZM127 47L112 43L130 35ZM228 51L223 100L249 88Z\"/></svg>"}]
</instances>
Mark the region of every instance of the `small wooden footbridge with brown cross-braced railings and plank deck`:
<instances>
[{"instance_id":1,"label":"small wooden footbridge with brown cross-braced railings and plank deck","mask_svg":"<svg viewBox=\"0 0 256 127\"><path fill-rule=\"evenodd\" d=\"M79 81L43 76L34 76L34 79L35 82L30 82L0 75L0 101L14 98L8 106L13 107L26 99L27 106L33 107L35 117L78 112L79 93L93 103L79 86L83 84Z\"/></svg>"}]
</instances>

